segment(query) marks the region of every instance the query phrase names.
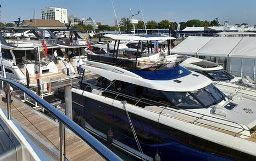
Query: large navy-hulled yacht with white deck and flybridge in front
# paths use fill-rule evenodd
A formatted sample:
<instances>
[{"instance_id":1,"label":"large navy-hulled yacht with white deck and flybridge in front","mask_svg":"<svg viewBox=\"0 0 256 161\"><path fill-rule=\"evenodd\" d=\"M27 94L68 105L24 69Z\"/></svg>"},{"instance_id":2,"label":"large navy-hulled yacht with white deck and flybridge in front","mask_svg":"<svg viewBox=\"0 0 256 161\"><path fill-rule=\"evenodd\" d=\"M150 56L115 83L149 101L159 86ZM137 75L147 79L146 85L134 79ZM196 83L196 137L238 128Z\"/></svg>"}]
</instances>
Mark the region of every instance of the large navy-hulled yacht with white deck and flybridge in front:
<instances>
[{"instance_id":1,"label":"large navy-hulled yacht with white deck and flybridge in front","mask_svg":"<svg viewBox=\"0 0 256 161\"><path fill-rule=\"evenodd\" d=\"M255 159L255 101L226 95L185 60L88 54L73 108L86 130L139 159Z\"/></svg>"}]
</instances>

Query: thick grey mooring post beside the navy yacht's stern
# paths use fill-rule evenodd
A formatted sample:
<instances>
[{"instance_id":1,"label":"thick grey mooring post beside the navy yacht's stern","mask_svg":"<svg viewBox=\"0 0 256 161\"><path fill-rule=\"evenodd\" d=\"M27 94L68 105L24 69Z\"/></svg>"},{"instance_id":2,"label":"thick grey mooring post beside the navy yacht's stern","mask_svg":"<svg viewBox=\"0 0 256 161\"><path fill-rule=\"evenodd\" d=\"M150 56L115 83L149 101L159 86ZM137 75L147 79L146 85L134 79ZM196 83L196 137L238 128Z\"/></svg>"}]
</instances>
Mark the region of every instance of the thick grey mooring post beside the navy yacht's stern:
<instances>
[{"instance_id":1,"label":"thick grey mooring post beside the navy yacht's stern","mask_svg":"<svg viewBox=\"0 0 256 161\"><path fill-rule=\"evenodd\" d=\"M72 90L71 85L64 86L65 115L72 120L73 114L72 114L72 92L71 92L71 90Z\"/></svg>"}]
</instances>

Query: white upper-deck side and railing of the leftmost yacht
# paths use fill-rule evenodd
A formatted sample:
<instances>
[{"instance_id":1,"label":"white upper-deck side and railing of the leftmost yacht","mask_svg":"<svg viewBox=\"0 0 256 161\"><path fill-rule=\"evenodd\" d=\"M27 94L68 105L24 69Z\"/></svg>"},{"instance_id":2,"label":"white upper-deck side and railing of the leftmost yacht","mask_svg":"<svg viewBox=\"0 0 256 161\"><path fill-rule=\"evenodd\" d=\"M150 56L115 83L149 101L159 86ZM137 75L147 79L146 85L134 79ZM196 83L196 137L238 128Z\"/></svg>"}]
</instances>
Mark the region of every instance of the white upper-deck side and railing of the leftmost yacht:
<instances>
[{"instance_id":1,"label":"white upper-deck side and railing of the leftmost yacht","mask_svg":"<svg viewBox=\"0 0 256 161\"><path fill-rule=\"evenodd\" d=\"M43 40L31 39L30 37L25 37L21 39L5 39L5 41L17 48L29 48L29 47L42 47ZM45 40L46 44L49 46L56 45L55 39L47 39Z\"/></svg>"}]
</instances>

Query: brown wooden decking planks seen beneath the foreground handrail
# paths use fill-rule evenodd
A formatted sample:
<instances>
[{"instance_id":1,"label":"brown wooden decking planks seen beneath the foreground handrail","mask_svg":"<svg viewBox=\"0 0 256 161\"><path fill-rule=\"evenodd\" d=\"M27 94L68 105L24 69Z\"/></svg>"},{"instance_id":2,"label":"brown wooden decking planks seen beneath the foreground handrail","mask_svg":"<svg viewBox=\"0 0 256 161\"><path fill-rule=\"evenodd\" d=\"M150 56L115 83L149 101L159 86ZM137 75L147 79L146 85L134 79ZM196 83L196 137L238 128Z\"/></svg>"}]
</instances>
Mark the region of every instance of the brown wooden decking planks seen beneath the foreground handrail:
<instances>
[{"instance_id":1,"label":"brown wooden decking planks seen beneath the foreground handrail","mask_svg":"<svg viewBox=\"0 0 256 161\"><path fill-rule=\"evenodd\" d=\"M1 96L0 96L1 97ZM5 97L5 95L2 95ZM13 97L13 96L12 96ZM16 97L15 97L16 98ZM7 103L0 101L0 106L7 111ZM27 129L35 133L44 142L49 143L48 146L59 149L59 125L45 119L38 112L27 108L21 103L12 102L11 105L12 118L15 118L19 123L23 124ZM45 137L47 136L47 138ZM33 139L38 143L38 140ZM38 145L44 146L44 145ZM54 158L58 158L55 156ZM66 130L66 158L69 160L104 160L97 152L95 152L84 141L79 139L74 134Z\"/></svg>"}]
</instances>

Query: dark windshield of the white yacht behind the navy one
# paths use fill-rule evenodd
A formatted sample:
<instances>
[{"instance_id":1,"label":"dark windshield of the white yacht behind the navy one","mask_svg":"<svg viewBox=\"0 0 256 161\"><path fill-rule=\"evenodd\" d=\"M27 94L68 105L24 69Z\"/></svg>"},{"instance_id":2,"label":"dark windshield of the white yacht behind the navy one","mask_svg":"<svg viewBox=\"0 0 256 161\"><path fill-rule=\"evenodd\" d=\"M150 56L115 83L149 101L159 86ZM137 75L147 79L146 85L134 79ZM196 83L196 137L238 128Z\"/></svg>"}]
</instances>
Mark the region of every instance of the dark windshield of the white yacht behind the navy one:
<instances>
[{"instance_id":1,"label":"dark windshield of the white yacht behind the navy one","mask_svg":"<svg viewBox=\"0 0 256 161\"><path fill-rule=\"evenodd\" d=\"M203 71L202 74L204 74L212 80L231 80L234 78L230 73L224 70Z\"/></svg>"}]
</instances>

